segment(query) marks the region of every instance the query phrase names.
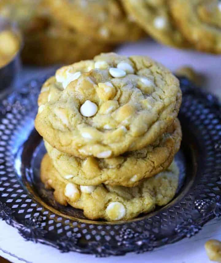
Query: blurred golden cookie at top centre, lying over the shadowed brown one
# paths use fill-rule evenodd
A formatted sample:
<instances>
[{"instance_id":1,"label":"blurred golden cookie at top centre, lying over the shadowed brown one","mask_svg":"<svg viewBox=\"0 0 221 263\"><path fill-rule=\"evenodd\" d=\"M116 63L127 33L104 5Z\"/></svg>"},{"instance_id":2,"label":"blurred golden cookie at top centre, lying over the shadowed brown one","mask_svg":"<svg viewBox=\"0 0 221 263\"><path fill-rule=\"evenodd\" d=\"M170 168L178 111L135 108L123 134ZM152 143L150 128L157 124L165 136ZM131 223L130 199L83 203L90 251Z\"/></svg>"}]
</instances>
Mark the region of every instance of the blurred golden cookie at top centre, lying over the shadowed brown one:
<instances>
[{"instance_id":1,"label":"blurred golden cookie at top centre, lying over the shadowed brown one","mask_svg":"<svg viewBox=\"0 0 221 263\"><path fill-rule=\"evenodd\" d=\"M136 41L144 35L117 0L48 0L48 4L61 24L96 40L118 43Z\"/></svg>"}]
</instances>

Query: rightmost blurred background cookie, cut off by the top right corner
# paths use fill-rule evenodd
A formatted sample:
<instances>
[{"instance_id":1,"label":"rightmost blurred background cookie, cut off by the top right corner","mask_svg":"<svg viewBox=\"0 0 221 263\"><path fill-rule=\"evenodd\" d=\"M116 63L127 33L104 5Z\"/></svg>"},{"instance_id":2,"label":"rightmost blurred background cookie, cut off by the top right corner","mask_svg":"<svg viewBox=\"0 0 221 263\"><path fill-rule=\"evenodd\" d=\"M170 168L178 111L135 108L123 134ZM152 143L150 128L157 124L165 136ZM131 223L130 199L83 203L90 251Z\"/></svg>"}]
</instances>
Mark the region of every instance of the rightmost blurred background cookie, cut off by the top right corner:
<instances>
[{"instance_id":1,"label":"rightmost blurred background cookie, cut off by the top right corner","mask_svg":"<svg viewBox=\"0 0 221 263\"><path fill-rule=\"evenodd\" d=\"M198 50L221 53L221 3L218 0L171 0L172 15Z\"/></svg>"}]
</instances>

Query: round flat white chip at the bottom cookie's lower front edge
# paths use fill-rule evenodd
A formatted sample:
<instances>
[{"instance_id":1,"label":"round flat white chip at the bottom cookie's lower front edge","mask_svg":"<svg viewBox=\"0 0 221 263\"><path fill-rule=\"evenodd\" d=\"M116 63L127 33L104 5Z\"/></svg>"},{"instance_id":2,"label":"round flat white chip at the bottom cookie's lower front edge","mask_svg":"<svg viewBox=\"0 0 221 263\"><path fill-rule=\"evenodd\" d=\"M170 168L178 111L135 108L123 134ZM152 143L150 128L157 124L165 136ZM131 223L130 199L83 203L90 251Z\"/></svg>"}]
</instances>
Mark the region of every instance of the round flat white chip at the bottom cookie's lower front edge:
<instances>
[{"instance_id":1,"label":"round flat white chip at the bottom cookie's lower front edge","mask_svg":"<svg viewBox=\"0 0 221 263\"><path fill-rule=\"evenodd\" d=\"M106 208L107 216L111 220L120 220L126 214L126 209L124 205L120 202L111 202Z\"/></svg>"}]
</instances>

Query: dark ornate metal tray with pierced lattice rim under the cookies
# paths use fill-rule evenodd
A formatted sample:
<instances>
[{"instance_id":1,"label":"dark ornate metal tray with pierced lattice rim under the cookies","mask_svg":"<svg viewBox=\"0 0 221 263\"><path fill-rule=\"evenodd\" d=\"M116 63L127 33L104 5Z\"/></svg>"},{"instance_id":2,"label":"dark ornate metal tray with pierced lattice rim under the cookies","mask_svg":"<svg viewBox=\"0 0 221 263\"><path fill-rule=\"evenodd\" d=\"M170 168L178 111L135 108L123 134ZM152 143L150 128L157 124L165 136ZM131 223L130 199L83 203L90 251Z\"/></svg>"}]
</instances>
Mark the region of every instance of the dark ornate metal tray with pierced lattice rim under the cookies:
<instances>
[{"instance_id":1,"label":"dark ornate metal tray with pierced lattice rim under the cookies","mask_svg":"<svg viewBox=\"0 0 221 263\"><path fill-rule=\"evenodd\" d=\"M176 157L182 176L173 201L129 222L91 221L58 205L39 180L45 149L33 120L44 80L32 80L0 102L0 217L26 240L100 257L141 253L191 237L221 215L220 106L185 78L179 114L184 136Z\"/></svg>"}]
</instances>

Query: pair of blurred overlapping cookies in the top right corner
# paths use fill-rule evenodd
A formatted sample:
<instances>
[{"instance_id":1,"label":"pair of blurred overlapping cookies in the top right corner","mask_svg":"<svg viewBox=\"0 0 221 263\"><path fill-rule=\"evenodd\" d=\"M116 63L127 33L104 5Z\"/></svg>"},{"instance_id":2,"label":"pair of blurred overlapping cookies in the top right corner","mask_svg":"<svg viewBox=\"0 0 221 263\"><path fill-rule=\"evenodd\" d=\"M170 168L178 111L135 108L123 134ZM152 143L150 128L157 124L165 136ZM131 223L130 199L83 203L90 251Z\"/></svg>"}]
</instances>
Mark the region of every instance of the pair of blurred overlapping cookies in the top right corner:
<instances>
[{"instance_id":1,"label":"pair of blurred overlapping cookies in the top right corner","mask_svg":"<svg viewBox=\"0 0 221 263\"><path fill-rule=\"evenodd\" d=\"M151 37L176 48L221 53L219 0L122 0Z\"/></svg>"}]
</instances>

